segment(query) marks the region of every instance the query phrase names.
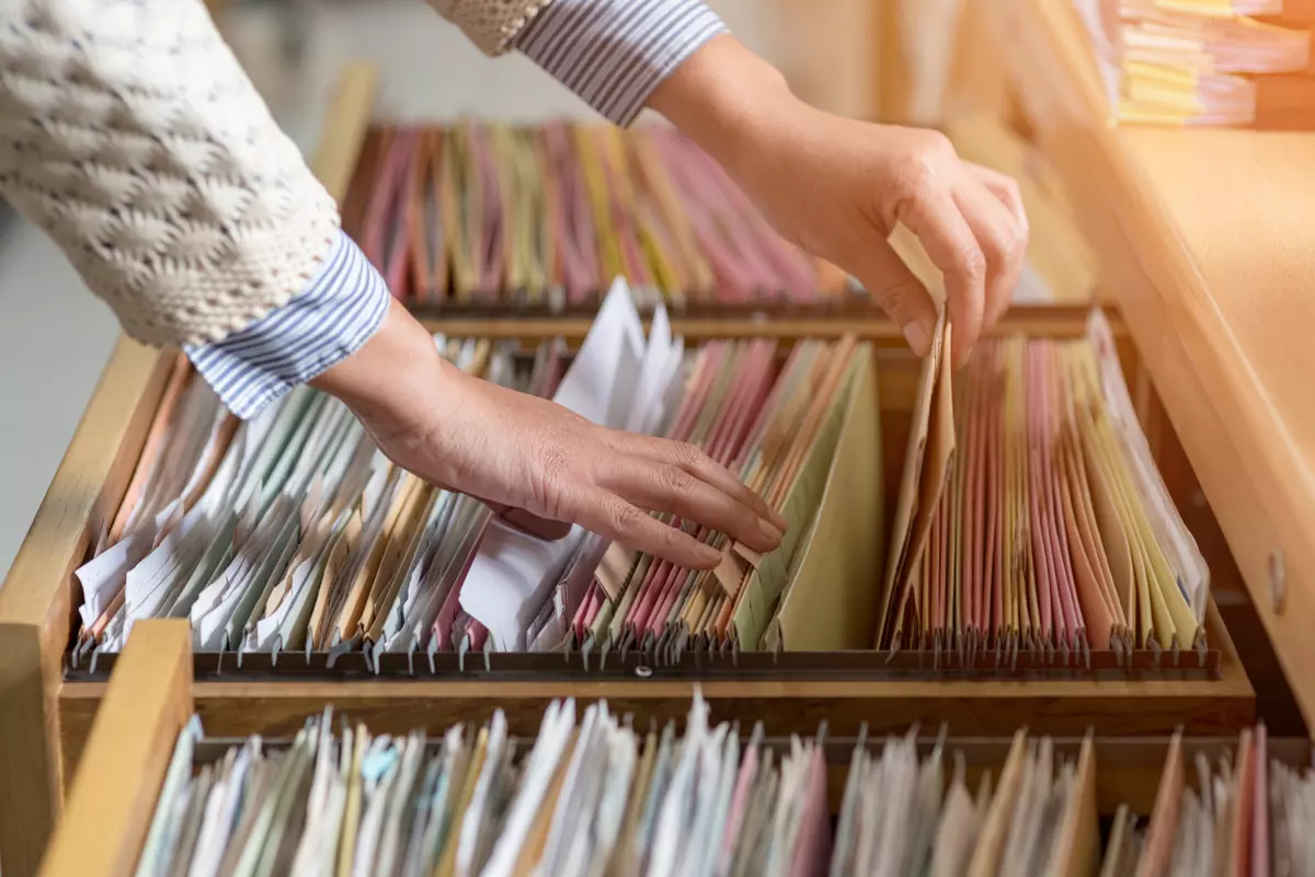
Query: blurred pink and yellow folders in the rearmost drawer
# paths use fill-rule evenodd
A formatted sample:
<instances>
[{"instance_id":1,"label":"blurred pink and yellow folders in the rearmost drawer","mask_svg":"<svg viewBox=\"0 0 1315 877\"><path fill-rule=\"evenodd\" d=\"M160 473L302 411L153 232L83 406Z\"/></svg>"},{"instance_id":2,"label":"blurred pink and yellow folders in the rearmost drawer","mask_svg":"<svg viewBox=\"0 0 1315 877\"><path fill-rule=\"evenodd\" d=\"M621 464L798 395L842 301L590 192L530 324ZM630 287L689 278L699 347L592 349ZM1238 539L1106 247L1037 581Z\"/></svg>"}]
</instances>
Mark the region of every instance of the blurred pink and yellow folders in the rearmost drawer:
<instances>
[{"instance_id":1,"label":"blurred pink and yellow folders in the rearmost drawer","mask_svg":"<svg viewBox=\"0 0 1315 877\"><path fill-rule=\"evenodd\" d=\"M855 293L667 126L460 122L387 127L375 144L347 227L409 303L593 306L614 277L646 306L823 305Z\"/></svg>"}]
</instances>

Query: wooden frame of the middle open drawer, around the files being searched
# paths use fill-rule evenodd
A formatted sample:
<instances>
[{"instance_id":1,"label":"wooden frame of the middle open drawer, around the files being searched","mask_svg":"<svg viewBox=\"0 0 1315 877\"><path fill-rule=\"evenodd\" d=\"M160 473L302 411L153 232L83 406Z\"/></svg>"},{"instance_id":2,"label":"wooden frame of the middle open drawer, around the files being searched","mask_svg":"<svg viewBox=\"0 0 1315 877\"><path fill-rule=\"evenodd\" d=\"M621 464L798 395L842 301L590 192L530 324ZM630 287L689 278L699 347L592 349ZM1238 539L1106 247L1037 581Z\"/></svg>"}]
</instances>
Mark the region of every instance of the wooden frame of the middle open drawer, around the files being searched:
<instances>
[{"instance_id":1,"label":"wooden frame of the middle open drawer, around the files being searched","mask_svg":"<svg viewBox=\"0 0 1315 877\"><path fill-rule=\"evenodd\" d=\"M317 171L330 190L342 194L368 117L368 75L348 76ZM1056 337L1082 332L1085 314L1065 309L1027 309L1010 315L1002 331L1024 330ZM1124 373L1130 377L1139 416L1152 440L1180 507L1197 494L1191 467L1148 379L1143 358L1115 319ZM450 324L450 332L501 337L580 337L583 320L480 322ZM439 326L435 326L439 328ZM878 348L882 445L902 448L911 407L915 364L893 324L884 319L677 319L675 330L690 340L773 335L781 339L838 336L855 332ZM66 681L64 651L76 601L72 570L84 559L100 521L116 508L160 396L168 357L121 341L96 395L42 504L11 575L0 591L0 855L5 873L30 873L42 839L60 807L85 744L104 681ZM886 457L899 465L898 454ZM888 491L898 478L888 474ZM1216 586L1239 591L1237 572L1215 537L1208 508L1198 508L1193 528L1211 565ZM1211 612L1211 647L1218 670L1185 676L1165 664L1135 676L1085 679L935 680L811 674L789 680L734 674L704 683L714 716L761 718L771 733L811 733L826 719L835 734L903 729L913 722L948 722L981 734L1009 734L1020 725L1036 731L1077 735L1094 726L1102 734L1169 733L1185 726L1193 734L1236 730L1255 718L1255 693L1232 639ZM606 698L636 716L682 716L693 683L689 679L598 680L585 675L535 681L377 679L204 679L192 687L196 710L214 734L255 730L291 733L302 718L327 702L367 721L377 730L442 726L483 718L502 708L513 729L533 733L542 708L555 697Z\"/></svg>"}]
</instances>

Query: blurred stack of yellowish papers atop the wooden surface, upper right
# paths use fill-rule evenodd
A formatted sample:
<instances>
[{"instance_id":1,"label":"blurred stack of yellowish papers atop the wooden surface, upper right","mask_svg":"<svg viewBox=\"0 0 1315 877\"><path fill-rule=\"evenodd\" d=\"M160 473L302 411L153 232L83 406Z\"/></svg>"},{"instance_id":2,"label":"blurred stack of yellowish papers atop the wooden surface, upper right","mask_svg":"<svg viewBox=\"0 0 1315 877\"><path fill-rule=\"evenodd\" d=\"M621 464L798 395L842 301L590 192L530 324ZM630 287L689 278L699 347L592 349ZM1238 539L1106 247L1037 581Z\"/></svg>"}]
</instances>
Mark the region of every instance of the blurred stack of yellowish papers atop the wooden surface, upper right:
<instances>
[{"instance_id":1,"label":"blurred stack of yellowish papers atop the wooden surface, upper right","mask_svg":"<svg viewBox=\"0 0 1315 877\"><path fill-rule=\"evenodd\" d=\"M1303 91L1301 77L1269 79L1310 68L1311 32L1247 17L1279 12L1270 8L1279 4L1076 1L1120 122L1289 127L1315 121L1308 108L1299 118L1283 108L1285 95Z\"/></svg>"}]
</instances>

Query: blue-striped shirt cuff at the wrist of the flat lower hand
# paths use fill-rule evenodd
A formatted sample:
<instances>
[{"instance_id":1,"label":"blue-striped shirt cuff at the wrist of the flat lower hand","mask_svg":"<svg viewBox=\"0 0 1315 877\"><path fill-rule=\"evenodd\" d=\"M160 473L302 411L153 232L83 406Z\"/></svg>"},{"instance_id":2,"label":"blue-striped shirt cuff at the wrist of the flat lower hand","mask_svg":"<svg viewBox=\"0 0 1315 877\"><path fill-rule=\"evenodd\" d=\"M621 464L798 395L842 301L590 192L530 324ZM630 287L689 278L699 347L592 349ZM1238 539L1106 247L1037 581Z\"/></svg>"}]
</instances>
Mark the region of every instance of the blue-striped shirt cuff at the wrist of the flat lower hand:
<instances>
[{"instance_id":1,"label":"blue-striped shirt cuff at the wrist of the flat lower hand","mask_svg":"<svg viewBox=\"0 0 1315 877\"><path fill-rule=\"evenodd\" d=\"M292 301L222 341L184 349L224 404L249 419L359 351L383 323L389 299L384 278L339 231Z\"/></svg>"}]
</instances>

